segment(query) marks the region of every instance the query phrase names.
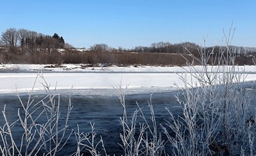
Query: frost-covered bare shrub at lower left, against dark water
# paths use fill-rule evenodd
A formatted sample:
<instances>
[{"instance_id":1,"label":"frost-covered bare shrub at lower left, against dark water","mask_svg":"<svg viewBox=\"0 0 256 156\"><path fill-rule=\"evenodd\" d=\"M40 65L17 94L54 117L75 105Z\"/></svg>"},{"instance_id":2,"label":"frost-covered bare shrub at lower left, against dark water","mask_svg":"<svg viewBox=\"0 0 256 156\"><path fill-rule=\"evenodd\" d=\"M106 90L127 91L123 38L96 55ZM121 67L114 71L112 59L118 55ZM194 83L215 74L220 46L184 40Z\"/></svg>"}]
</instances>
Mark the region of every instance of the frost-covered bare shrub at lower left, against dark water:
<instances>
[{"instance_id":1,"label":"frost-covered bare shrub at lower left, against dark water","mask_svg":"<svg viewBox=\"0 0 256 156\"><path fill-rule=\"evenodd\" d=\"M38 72L36 81L38 76L43 78L42 73ZM18 94L22 109L18 109L18 119L15 122L9 123L4 107L2 113L5 123L0 125L2 155L56 155L73 134L73 131L68 129L72 109L70 100L65 119L62 119L59 95L51 92L50 85L45 80L42 85L46 96L38 102L32 98L34 87L28 92L26 102L23 102ZM64 120L62 125L59 124L61 119ZM20 136L15 134L14 126L21 127Z\"/></svg>"}]
</instances>

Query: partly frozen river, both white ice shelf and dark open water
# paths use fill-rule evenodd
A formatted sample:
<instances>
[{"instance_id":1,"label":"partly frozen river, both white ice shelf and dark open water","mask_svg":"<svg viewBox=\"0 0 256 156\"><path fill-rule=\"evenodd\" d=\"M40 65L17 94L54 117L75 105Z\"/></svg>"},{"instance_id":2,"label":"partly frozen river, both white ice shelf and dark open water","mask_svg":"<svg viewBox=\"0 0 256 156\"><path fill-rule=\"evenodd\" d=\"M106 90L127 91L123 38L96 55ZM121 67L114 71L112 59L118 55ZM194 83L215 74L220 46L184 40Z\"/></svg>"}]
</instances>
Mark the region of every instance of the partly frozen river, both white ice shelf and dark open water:
<instances>
[{"instance_id":1,"label":"partly frozen river, both white ice shelf and dark open water","mask_svg":"<svg viewBox=\"0 0 256 156\"><path fill-rule=\"evenodd\" d=\"M174 94L177 94L174 88L174 82L179 81L175 73L71 73L56 72L43 73L44 79L37 76L37 73L0 73L0 110L6 105L6 116L10 123L18 119L18 109L22 109L20 101L15 92L18 93L23 102L28 100L28 94L24 91L31 90L35 83L35 91L32 98L39 101L44 98L45 91L42 83L50 84L51 89L57 84L57 91L61 98L61 111L67 111L69 95L71 93L71 105L74 106L70 113L69 130L77 131L77 124L81 132L91 132L90 122L95 124L95 132L99 140L100 135L105 140L107 152L111 155L120 154L121 142L119 134L122 132L122 126L119 123L119 117L123 116L122 105L116 96L116 90L113 87L122 84L123 87L129 85L126 96L126 111L129 117L135 109L138 109L136 101L145 109L145 115L149 116L150 111L147 108L150 100L150 93L153 93L153 102L156 111L156 119L164 124L164 116L168 113L165 107L178 105ZM45 82L44 82L45 80ZM73 89L71 89L73 88ZM62 116L61 116L62 117ZM42 117L41 122L46 118ZM141 121L141 119L138 119ZM0 115L0 125L4 124L3 115ZM63 123L60 122L60 126ZM15 124L13 127L15 138L21 138L21 125ZM75 136L71 136L68 142L67 150L62 150L59 154L71 154L76 151ZM87 153L89 154L89 153Z\"/></svg>"}]
</instances>

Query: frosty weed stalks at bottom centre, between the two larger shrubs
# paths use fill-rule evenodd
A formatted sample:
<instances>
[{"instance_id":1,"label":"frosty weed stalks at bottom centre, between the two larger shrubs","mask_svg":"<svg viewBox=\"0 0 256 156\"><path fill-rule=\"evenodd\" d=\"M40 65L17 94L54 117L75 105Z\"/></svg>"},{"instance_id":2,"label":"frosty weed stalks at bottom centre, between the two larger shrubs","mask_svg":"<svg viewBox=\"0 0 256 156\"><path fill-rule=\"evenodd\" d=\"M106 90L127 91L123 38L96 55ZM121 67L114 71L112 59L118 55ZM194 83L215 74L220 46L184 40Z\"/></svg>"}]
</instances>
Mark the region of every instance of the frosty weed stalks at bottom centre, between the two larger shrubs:
<instances>
[{"instance_id":1,"label":"frosty weed stalks at bottom centre, between the two larger shrubs","mask_svg":"<svg viewBox=\"0 0 256 156\"><path fill-rule=\"evenodd\" d=\"M123 148L123 155L165 155L165 141L162 140L161 132L157 130L158 123L156 123L151 98L148 102L151 115L149 120L143 114L142 108L139 106L138 102L136 102L138 109L134 110L130 118L126 113L125 92L127 88L128 86L122 89L121 84L115 88L117 96L123 106L123 117L119 118L119 122L123 127L123 132L120 134L122 143L119 144ZM138 123L138 117L141 117L144 122Z\"/></svg>"}]
</instances>

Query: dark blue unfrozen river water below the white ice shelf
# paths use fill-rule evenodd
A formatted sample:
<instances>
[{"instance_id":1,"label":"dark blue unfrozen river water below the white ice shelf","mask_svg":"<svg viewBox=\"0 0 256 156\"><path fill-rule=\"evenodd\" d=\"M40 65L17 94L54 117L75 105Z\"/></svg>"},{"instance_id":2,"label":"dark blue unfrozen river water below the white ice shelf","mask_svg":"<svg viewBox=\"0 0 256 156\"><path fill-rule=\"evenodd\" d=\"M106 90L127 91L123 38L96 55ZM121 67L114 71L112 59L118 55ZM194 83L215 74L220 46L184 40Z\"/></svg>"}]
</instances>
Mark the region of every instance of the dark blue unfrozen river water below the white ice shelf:
<instances>
[{"instance_id":1,"label":"dark blue unfrozen river water below the white ice shelf","mask_svg":"<svg viewBox=\"0 0 256 156\"><path fill-rule=\"evenodd\" d=\"M174 94L177 92L163 92L163 93L154 93L151 96L151 102L153 103L155 110L155 117L157 121L158 131L161 132L160 124L164 125L164 118L169 117L167 108L172 108L173 106L177 106L178 102L175 100ZM36 93L31 96L31 100L34 100L33 103L37 103L41 99L45 98L46 94ZM26 93L20 94L21 101L23 103L27 103L28 95ZM103 139L105 148L107 153L110 155L121 155L123 154L123 150L118 143L122 144L120 139L120 133L122 133L123 128L119 122L119 117L123 117L123 107L121 105L120 100L114 94L111 96L85 96L79 93L73 93L70 96L70 93L61 93L60 95L60 123L59 127L63 127L65 125L66 113L68 109L69 98L71 100L71 106L73 109L71 110L70 117L68 120L68 129L67 133L71 132L74 129L77 132L77 124L79 124L79 131L84 133L90 133L91 123L94 123L94 131L97 133L95 141L99 141L100 136ZM47 101L48 98L44 100ZM143 114L147 117L148 121L150 121L150 111L148 108L148 102L150 102L150 94L129 94L125 96L126 103L126 112L129 120L131 119L132 113L134 110L139 109L136 101L139 103L139 106L142 108ZM55 97L55 102L58 102L58 96ZM22 106L20 104L20 100L16 94L2 94L0 98L0 110L4 109L4 105L6 105L6 116L9 123L13 123L15 120L18 120L18 109L20 109L21 114L23 115ZM37 105L37 107L41 106L41 102ZM34 108L33 108L34 109ZM43 109L43 108L42 108ZM39 109L34 113L34 116L39 115L42 109ZM177 110L181 113L180 109L174 107L174 111ZM43 114L37 122L43 124L46 122L47 118ZM3 115L0 115L0 125L4 125L5 121ZM145 121L138 115L137 125L139 127L139 123L145 123ZM129 122L130 124L130 122ZM15 132L13 135L15 139L20 142L22 131L21 124L17 122L12 127L12 131ZM67 135L66 135L67 137ZM63 148L57 155L69 155L76 151L77 143L76 137L71 134L69 141L67 142L65 148ZM101 151L101 145L99 145L98 150ZM43 153L44 150L42 149ZM82 152L85 155L89 154L88 151L83 150ZM41 154L42 154L41 153Z\"/></svg>"}]
</instances>

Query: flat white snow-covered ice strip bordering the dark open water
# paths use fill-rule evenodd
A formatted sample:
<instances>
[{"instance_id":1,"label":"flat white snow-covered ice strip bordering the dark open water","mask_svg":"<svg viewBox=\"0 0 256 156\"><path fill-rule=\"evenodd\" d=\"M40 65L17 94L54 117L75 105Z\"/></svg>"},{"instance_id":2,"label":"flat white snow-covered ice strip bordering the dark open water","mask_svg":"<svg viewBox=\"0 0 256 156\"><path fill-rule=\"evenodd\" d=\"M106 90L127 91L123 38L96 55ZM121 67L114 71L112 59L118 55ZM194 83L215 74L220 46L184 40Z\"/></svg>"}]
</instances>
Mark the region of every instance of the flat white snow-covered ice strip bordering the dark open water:
<instances>
[{"instance_id":1,"label":"flat white snow-covered ice strip bordering the dark open water","mask_svg":"<svg viewBox=\"0 0 256 156\"><path fill-rule=\"evenodd\" d=\"M47 84L57 89L112 89L129 85L130 88L169 88L180 82L175 73L43 73ZM0 91L31 90L37 73L0 73ZM42 90L44 80L38 76L35 89Z\"/></svg>"}]
</instances>

